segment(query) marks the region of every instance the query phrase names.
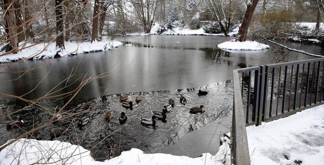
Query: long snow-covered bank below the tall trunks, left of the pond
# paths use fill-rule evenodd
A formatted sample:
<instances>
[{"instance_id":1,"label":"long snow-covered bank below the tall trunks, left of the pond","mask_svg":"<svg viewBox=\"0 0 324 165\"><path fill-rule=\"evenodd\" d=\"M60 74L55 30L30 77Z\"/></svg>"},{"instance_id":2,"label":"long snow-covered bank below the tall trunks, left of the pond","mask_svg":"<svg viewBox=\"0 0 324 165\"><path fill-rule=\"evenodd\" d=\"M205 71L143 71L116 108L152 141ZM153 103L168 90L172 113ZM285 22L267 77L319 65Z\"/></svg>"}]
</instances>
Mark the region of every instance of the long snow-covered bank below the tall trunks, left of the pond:
<instances>
[{"instance_id":1,"label":"long snow-covered bank below the tall trunks, left of the pond","mask_svg":"<svg viewBox=\"0 0 324 165\"><path fill-rule=\"evenodd\" d=\"M111 50L120 46L122 43L116 40L105 40L102 42L65 42L65 50L58 53L60 56L71 56L82 53L91 53L91 52L101 52ZM19 49L22 45L20 45ZM25 49L18 52L17 54L9 54L5 56L0 56L0 63L19 61L22 59L43 59L43 58L53 58L59 51L56 48L56 43L42 43L33 45L27 43L24 46Z\"/></svg>"}]
</instances>

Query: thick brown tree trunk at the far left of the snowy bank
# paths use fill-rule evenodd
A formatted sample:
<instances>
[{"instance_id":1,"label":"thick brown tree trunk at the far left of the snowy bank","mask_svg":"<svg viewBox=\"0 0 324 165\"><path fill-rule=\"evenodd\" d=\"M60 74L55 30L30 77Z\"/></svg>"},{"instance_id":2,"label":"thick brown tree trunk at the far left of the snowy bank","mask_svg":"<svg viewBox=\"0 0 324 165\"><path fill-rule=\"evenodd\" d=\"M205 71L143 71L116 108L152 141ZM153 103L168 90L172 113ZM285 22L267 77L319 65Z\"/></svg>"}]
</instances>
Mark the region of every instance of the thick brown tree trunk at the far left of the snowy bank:
<instances>
[{"instance_id":1,"label":"thick brown tree trunk at the far left of the snowy bank","mask_svg":"<svg viewBox=\"0 0 324 165\"><path fill-rule=\"evenodd\" d=\"M4 0L4 8L7 10L6 21L8 25L8 39L10 40L11 47L8 51L12 53L18 52L18 35L17 35L17 24L14 10L13 0Z\"/></svg>"}]
</instances>

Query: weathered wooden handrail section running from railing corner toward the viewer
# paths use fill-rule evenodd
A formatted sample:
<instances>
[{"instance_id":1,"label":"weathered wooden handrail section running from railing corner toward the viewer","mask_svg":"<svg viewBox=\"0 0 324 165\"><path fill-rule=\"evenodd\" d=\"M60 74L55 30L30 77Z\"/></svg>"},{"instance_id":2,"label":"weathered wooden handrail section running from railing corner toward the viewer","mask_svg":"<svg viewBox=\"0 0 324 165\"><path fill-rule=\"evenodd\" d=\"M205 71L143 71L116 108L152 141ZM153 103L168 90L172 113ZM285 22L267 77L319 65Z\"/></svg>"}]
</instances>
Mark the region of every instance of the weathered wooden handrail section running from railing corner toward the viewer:
<instances>
[{"instance_id":1,"label":"weathered wooden handrail section running from railing corner toward the viewer","mask_svg":"<svg viewBox=\"0 0 324 165\"><path fill-rule=\"evenodd\" d=\"M244 118L244 110L242 104L238 72L233 70L234 82L234 106L233 106L233 119L232 119L232 134L233 137L233 163L234 164L251 164L250 152L248 146L246 123ZM238 97L235 97L238 96Z\"/></svg>"}]
</instances>

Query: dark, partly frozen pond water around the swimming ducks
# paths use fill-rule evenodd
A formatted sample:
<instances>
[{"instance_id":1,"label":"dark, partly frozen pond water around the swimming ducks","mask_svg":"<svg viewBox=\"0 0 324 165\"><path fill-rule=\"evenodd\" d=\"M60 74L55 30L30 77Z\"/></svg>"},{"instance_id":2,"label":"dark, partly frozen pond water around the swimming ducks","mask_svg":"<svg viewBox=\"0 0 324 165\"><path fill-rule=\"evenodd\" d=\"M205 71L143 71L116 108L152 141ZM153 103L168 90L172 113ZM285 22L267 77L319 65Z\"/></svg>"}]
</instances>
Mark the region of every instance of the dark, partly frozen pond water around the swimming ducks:
<instances>
[{"instance_id":1,"label":"dark, partly frozen pond water around the swimming ducks","mask_svg":"<svg viewBox=\"0 0 324 165\"><path fill-rule=\"evenodd\" d=\"M18 112L23 101L2 97L2 118L0 120L0 145L24 131L48 122L71 95L78 89L82 80L97 75L85 85L75 98L63 109L63 121L35 131L33 138L50 140L50 129L67 129L68 134L57 138L80 144L92 151L97 160L116 156L123 150L139 148L154 153L170 143L218 117L230 114L232 109L232 70L269 63L287 62L313 58L311 56L282 51L269 44L265 51L222 51L217 45L233 39L220 36L123 36L115 40L124 45L112 51L89 53L62 58L46 59L4 66L0 71L0 93L21 96L24 99L37 99L41 104L32 112ZM296 49L309 53L322 54L313 45L290 44ZM280 55L284 54L284 55ZM285 57L285 58L284 58ZM37 68L42 66L41 68ZM33 70L22 72L35 68ZM11 73L4 73L11 72ZM209 91L199 97L198 90ZM120 94L127 93L133 102L139 94L142 102L126 109L119 102ZM65 94L62 96L62 94ZM188 103L179 103L183 94ZM46 97L43 97L47 95ZM58 96L59 95L59 96ZM105 95L107 101L100 97ZM63 97L63 98L62 98ZM156 129L140 125L139 117L150 117L151 111L160 110L172 98L176 101L167 122L157 121ZM92 108L86 110L85 102ZM204 105L204 114L190 114L193 106ZM43 106L43 107L40 107ZM47 109L45 109L47 108ZM112 111L111 121L104 114ZM119 125L118 116L124 111L129 117L126 125ZM6 130L11 119L23 116L22 129ZM83 130L76 128L76 120L89 117ZM29 136L29 137L30 137Z\"/></svg>"}]
</instances>

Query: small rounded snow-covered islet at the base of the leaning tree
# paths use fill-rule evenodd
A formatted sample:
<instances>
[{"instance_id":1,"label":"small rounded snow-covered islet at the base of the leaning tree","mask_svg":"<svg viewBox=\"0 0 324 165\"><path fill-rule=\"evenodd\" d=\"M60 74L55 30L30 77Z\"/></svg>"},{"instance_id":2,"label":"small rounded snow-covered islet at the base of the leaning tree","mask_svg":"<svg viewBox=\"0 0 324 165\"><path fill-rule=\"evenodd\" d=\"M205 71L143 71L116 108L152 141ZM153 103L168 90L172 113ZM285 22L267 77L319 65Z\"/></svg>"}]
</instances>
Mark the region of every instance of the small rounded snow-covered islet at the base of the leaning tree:
<instances>
[{"instance_id":1,"label":"small rounded snow-covered islet at the base of the leaning tree","mask_svg":"<svg viewBox=\"0 0 324 165\"><path fill-rule=\"evenodd\" d=\"M225 50L250 50L250 51L260 51L260 50L265 50L270 48L268 45L258 43L256 41L235 42L234 40L219 44L217 45L217 47L219 49L225 49Z\"/></svg>"}]
</instances>

